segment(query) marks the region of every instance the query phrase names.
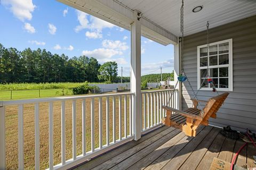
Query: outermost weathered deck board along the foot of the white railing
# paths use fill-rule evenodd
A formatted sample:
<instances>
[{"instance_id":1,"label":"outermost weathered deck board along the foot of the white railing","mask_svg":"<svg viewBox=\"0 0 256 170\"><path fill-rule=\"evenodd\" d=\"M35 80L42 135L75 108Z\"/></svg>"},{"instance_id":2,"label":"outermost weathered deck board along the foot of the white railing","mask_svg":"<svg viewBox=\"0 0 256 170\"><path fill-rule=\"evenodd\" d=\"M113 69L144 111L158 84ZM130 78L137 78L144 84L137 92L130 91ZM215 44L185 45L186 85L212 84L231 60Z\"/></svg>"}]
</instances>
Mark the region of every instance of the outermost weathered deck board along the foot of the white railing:
<instances>
[{"instance_id":1,"label":"outermost weathered deck board along the foot of the white railing","mask_svg":"<svg viewBox=\"0 0 256 170\"><path fill-rule=\"evenodd\" d=\"M87 162L87 163L85 163L83 165L78 166L77 170L80 170L80 169L81 170L82 169L85 169L85 170L86 169L92 169L95 166L98 166L98 165L102 164L103 162L106 162L107 160L117 156L118 154L122 154L124 151L126 151L126 150L128 150L128 149L130 149L130 148L132 148L132 147L134 147L136 145L138 145L139 143L141 143L141 142L143 142L143 141L145 141L145 140L147 140L147 139L149 139L151 137L154 137L156 134L166 130L167 128L168 128L167 126L163 126L162 128L154 130L154 131L152 131L152 132L150 132L150 133L148 133L146 135L143 135L141 137L141 139L138 140L138 141L131 141L129 143L126 143L125 145L123 145L121 147L118 147L118 148L108 152L107 154L104 154L104 155L102 155L100 157L97 157L95 159L90 160L89 162Z\"/></svg>"}]
</instances>

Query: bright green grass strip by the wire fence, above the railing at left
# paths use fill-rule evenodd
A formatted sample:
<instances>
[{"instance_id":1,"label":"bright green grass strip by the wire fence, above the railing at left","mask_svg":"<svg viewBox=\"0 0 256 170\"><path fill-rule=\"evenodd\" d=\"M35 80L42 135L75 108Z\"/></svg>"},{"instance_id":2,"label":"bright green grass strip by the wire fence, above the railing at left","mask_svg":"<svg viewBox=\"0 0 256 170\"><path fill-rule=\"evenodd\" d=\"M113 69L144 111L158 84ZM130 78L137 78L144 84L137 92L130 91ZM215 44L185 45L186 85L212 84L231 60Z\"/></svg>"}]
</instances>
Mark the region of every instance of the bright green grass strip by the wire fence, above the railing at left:
<instances>
[{"instance_id":1,"label":"bright green grass strip by the wire fence, above the railing at left","mask_svg":"<svg viewBox=\"0 0 256 170\"><path fill-rule=\"evenodd\" d=\"M72 95L71 89L13 90L0 91L0 100L29 99L39 97Z\"/></svg>"}]
</instances>

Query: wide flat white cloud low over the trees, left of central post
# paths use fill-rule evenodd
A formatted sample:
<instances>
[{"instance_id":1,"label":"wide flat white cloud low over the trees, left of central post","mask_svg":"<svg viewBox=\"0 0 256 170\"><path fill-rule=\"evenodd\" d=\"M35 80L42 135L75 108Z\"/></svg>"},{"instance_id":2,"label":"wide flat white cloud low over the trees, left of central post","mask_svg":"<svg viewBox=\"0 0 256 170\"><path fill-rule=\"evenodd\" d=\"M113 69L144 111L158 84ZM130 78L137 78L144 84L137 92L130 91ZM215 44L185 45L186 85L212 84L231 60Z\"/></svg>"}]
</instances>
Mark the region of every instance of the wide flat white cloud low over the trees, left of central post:
<instances>
[{"instance_id":1,"label":"wide flat white cloud low over the trees, left of central post","mask_svg":"<svg viewBox=\"0 0 256 170\"><path fill-rule=\"evenodd\" d=\"M106 48L97 48L92 51L90 50L83 50L82 55L89 56L89 57L94 57L97 59L106 59L106 58L111 58L115 55L122 55L123 53L114 50L114 49L106 49Z\"/></svg>"}]
</instances>

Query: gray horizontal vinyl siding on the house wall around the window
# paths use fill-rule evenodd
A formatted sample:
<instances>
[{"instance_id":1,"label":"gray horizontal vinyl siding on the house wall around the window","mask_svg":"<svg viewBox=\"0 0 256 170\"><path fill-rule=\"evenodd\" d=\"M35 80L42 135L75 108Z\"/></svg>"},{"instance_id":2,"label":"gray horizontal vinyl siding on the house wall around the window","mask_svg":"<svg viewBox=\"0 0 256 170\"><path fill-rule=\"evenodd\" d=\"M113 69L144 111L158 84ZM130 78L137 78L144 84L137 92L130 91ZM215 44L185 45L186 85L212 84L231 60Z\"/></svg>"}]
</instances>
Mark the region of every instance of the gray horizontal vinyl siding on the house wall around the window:
<instances>
[{"instance_id":1,"label":"gray horizontal vinyl siding on the house wall around the window","mask_svg":"<svg viewBox=\"0 0 256 170\"><path fill-rule=\"evenodd\" d=\"M233 39L233 91L229 91L217 118L211 118L210 124L220 127L231 125L238 131L246 128L256 131L256 15L212 28L209 32L210 43ZM206 31L184 38L182 62L194 90L197 90L197 46L204 44ZM201 90L198 98L207 100L215 95ZM193 91L185 82L182 86L183 109L192 106L190 98L193 97Z\"/></svg>"}]
</instances>

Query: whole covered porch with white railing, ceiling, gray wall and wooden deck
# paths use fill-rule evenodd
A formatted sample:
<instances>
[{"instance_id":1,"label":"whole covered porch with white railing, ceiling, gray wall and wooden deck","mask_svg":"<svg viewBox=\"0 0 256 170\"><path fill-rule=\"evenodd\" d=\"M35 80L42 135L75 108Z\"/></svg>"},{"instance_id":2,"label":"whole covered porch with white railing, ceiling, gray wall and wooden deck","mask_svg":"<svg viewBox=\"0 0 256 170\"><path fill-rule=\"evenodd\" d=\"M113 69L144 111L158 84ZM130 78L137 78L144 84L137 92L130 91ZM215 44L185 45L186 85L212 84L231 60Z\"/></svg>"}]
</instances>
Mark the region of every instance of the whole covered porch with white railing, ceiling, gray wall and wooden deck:
<instances>
[{"instance_id":1,"label":"whole covered porch with white railing, ceiling, gray wall and wooden deck","mask_svg":"<svg viewBox=\"0 0 256 170\"><path fill-rule=\"evenodd\" d=\"M35 163L33 168L40 169L42 159L48 160L49 169L209 169L214 157L231 162L234 153L243 145L241 140L223 137L219 133L220 127L230 124L239 131L246 128L256 131L254 1L185 1L183 58L180 55L181 1L58 1L131 30L131 91L0 101L0 169L6 168L6 146L11 148L6 140L6 115L11 110L17 112L18 117L15 150L18 169L25 169L28 161ZM193 12L198 6L202 11ZM204 54L201 56L201 48L206 45L207 21L212 28L211 46L216 46L212 52L217 57L213 60L217 64L210 69L218 70L218 75L213 76L218 80L217 90L220 93L228 91L230 95L217 119L211 118L209 126L199 126L193 138L180 130L163 126L165 111L162 106L180 110L191 107L189 98L193 98L194 92L190 87L194 90L200 87L203 79L200 73L205 69L200 63L201 57L205 57ZM173 44L174 81L183 68L191 84L179 82L176 89L142 92L141 36L162 45ZM219 50L222 44L225 44L226 51L228 49L225 54ZM226 55L225 64L219 63L221 55ZM220 68L224 67L228 71L221 76ZM207 100L216 95L210 84L204 85L205 88L198 93L199 99ZM15 109L11 108L13 106ZM32 149L25 145L27 141L23 133L26 128L24 115L28 114L29 108L29 115L34 116L35 129L30 132L34 137L29 138L34 140ZM45 126L40 124L42 119L47 120ZM59 125L57 130L54 128L56 124ZM68 136L67 130L70 130ZM44 135L40 135L42 131ZM42 138L47 138L45 155L41 153ZM26 151L33 152L34 157L26 157ZM253 146L247 145L236 164L244 168L255 166L252 158L255 154Z\"/></svg>"}]
</instances>

